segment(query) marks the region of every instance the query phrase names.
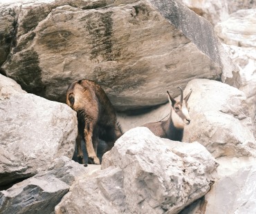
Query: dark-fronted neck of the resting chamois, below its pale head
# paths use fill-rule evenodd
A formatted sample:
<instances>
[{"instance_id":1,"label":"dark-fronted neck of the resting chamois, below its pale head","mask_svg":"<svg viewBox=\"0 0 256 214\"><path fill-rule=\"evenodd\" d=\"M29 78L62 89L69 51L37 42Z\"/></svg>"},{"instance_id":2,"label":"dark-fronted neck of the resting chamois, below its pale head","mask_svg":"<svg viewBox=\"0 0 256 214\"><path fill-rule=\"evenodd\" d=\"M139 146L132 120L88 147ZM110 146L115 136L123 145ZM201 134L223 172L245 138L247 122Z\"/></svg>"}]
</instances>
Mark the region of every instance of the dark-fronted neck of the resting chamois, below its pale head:
<instances>
[{"instance_id":1,"label":"dark-fronted neck of the resting chamois, below its pale head","mask_svg":"<svg viewBox=\"0 0 256 214\"><path fill-rule=\"evenodd\" d=\"M165 130L168 139L181 142L183 138L184 128L176 128L174 126L174 121L172 120L172 110L170 113L170 117L167 119L167 121L165 121Z\"/></svg>"}]
</instances>

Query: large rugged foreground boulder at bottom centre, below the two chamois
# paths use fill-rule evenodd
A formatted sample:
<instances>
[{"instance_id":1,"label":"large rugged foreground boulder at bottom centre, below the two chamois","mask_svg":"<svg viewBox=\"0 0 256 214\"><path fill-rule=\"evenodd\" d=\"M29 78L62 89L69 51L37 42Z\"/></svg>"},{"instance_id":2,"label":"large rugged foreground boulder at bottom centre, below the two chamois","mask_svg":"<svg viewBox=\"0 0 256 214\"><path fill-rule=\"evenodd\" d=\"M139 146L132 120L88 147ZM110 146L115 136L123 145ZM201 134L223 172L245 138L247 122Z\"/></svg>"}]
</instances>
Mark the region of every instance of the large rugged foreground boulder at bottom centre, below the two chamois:
<instances>
[{"instance_id":1,"label":"large rugged foreground boulder at bottom centre, below the two chamois","mask_svg":"<svg viewBox=\"0 0 256 214\"><path fill-rule=\"evenodd\" d=\"M178 213L208 192L217 163L201 144L174 144L129 130L103 156L102 171L78 179L55 212Z\"/></svg>"}]
</instances>

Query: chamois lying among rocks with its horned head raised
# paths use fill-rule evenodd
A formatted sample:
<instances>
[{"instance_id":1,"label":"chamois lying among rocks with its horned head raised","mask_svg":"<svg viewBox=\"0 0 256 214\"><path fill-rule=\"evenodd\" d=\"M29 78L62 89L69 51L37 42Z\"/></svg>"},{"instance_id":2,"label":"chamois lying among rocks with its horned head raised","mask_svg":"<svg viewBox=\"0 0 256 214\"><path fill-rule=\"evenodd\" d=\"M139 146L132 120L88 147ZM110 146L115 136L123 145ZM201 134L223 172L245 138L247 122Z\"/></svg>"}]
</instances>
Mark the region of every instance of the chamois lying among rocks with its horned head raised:
<instances>
[{"instance_id":1,"label":"chamois lying among rocks with its horned head raised","mask_svg":"<svg viewBox=\"0 0 256 214\"><path fill-rule=\"evenodd\" d=\"M158 137L168 138L175 141L180 141L183 138L183 130L185 125L190 124L190 115L188 113L188 99L192 93L190 93L183 99L183 90L181 90L181 99L176 101L170 93L167 91L168 99L171 105L170 117L166 121L158 121L143 126L149 128L149 130Z\"/></svg>"}]
</instances>

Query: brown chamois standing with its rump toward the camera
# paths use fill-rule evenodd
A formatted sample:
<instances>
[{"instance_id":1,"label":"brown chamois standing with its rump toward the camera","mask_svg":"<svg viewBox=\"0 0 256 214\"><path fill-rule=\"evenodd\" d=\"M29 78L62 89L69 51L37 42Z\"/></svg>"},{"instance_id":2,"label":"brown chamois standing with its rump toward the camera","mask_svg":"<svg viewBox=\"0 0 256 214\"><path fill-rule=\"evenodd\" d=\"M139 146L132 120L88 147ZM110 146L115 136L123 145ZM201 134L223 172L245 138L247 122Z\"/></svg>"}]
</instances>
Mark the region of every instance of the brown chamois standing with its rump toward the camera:
<instances>
[{"instance_id":1,"label":"brown chamois standing with its rump toward the camera","mask_svg":"<svg viewBox=\"0 0 256 214\"><path fill-rule=\"evenodd\" d=\"M97 157L99 139L113 147L122 130L116 121L116 113L104 90L94 81L73 81L66 91L66 104L77 113L77 157L84 164L81 140L84 139L89 164L100 164Z\"/></svg>"}]
</instances>

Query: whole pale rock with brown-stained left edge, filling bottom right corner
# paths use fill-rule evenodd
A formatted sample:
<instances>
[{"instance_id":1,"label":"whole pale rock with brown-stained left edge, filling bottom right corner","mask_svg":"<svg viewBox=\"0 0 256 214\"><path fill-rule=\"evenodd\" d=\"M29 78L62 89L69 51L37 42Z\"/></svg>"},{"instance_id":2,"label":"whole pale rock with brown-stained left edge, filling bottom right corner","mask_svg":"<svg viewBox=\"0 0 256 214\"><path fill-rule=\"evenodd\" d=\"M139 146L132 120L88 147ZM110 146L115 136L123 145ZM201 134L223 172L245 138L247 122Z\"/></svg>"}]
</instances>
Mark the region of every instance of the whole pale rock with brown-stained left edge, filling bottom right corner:
<instances>
[{"instance_id":1,"label":"whole pale rock with brown-stained left edge, filling bottom right corner","mask_svg":"<svg viewBox=\"0 0 256 214\"><path fill-rule=\"evenodd\" d=\"M255 213L255 159L217 159L219 179L211 190L181 214L196 213Z\"/></svg>"}]
</instances>

